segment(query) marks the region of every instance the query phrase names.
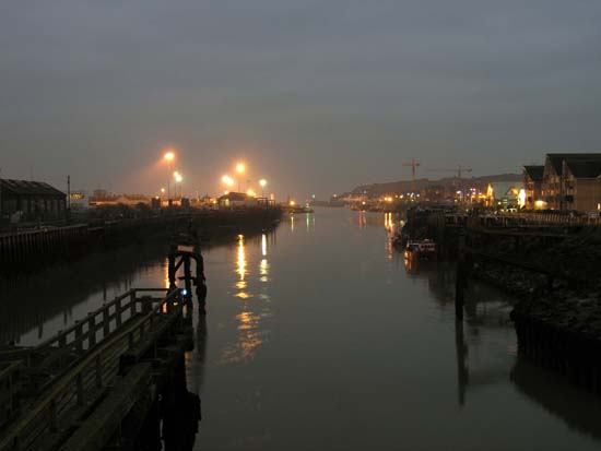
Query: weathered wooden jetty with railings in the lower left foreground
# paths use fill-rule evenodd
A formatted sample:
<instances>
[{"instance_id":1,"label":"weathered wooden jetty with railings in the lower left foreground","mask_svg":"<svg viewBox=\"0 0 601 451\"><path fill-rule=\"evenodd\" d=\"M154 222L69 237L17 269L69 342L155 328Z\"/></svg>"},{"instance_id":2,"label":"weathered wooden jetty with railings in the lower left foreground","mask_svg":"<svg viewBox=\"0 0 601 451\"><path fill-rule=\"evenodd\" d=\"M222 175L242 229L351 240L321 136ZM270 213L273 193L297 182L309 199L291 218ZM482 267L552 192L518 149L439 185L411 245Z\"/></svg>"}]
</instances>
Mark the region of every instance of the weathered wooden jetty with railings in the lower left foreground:
<instances>
[{"instance_id":1,"label":"weathered wooden jetty with railings in the lower left foreground","mask_svg":"<svg viewBox=\"0 0 601 451\"><path fill-rule=\"evenodd\" d=\"M160 449L161 422L167 440L181 415L169 405L190 404L192 347L179 288L131 289L37 346L0 347L0 451Z\"/></svg>"}]
</instances>

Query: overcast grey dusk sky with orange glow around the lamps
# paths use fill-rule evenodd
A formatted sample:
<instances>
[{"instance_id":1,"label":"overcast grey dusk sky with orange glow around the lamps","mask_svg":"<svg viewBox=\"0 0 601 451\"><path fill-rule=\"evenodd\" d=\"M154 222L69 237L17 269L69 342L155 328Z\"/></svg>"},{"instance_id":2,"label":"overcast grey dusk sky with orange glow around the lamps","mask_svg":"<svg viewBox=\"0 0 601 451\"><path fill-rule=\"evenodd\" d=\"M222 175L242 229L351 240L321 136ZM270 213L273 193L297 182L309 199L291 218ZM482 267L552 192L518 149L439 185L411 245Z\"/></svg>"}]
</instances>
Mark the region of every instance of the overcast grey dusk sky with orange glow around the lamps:
<instances>
[{"instance_id":1,"label":"overcast grey dusk sky with orange glow around the lamps","mask_svg":"<svg viewBox=\"0 0 601 451\"><path fill-rule=\"evenodd\" d=\"M519 173L601 151L599 0L4 0L4 178L154 194ZM246 180L250 180L247 182Z\"/></svg>"}]
</instances>

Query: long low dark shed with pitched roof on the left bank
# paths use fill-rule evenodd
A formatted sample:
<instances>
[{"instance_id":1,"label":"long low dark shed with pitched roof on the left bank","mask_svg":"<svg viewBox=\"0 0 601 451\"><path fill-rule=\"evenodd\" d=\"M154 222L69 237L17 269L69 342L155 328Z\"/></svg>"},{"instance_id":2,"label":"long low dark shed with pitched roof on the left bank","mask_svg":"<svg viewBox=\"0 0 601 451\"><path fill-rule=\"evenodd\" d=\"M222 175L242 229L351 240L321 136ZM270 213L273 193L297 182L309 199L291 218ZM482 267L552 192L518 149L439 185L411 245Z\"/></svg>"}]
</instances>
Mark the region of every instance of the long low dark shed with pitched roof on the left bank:
<instances>
[{"instance_id":1,"label":"long low dark shed with pitched roof on the left bank","mask_svg":"<svg viewBox=\"0 0 601 451\"><path fill-rule=\"evenodd\" d=\"M67 195L43 181L0 179L0 221L51 221L64 217Z\"/></svg>"}]
</instances>

